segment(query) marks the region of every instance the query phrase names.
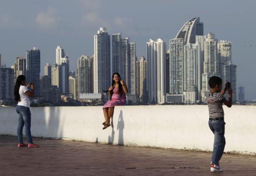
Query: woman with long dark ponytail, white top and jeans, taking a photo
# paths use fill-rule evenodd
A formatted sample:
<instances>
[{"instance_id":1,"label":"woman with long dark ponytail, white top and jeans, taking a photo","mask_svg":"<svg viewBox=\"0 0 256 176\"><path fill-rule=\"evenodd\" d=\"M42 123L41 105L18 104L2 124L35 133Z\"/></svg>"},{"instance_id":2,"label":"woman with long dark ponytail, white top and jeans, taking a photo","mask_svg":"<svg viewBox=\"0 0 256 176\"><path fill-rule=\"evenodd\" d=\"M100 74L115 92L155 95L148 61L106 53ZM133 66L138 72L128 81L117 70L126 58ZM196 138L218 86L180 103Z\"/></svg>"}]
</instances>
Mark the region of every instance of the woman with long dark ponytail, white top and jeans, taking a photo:
<instances>
[{"instance_id":1,"label":"woman with long dark ponytail, white top and jeans, taking a photo","mask_svg":"<svg viewBox=\"0 0 256 176\"><path fill-rule=\"evenodd\" d=\"M33 143L30 127L31 127L31 113L30 113L30 97L34 97L35 91L34 91L34 83L29 83L27 86L26 84L26 77L24 75L19 75L17 77L15 87L14 87L14 95L15 100L18 101L18 104L16 106L16 112L19 114L19 125L17 129L18 134L18 147L39 147L39 145L36 145ZM28 88L31 87L31 92L28 90ZM25 133L26 138L28 139L29 144L23 143L22 138L22 132L23 127L25 125Z\"/></svg>"}]
</instances>

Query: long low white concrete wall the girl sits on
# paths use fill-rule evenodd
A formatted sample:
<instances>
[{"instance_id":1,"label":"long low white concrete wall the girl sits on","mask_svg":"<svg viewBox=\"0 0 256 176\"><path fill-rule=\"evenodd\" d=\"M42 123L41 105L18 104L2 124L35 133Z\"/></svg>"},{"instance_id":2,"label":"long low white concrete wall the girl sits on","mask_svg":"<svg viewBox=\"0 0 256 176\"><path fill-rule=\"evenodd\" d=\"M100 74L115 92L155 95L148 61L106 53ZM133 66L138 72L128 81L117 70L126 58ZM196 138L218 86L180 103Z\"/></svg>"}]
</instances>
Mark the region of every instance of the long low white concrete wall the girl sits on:
<instances>
[{"instance_id":1,"label":"long low white concrete wall the girl sits on","mask_svg":"<svg viewBox=\"0 0 256 176\"><path fill-rule=\"evenodd\" d=\"M182 150L213 149L214 135L208 127L208 108L204 105L116 106L113 126L105 130L101 106L30 110L31 132L36 137ZM255 155L256 106L224 107L224 111L225 151ZM16 135L17 125L15 107L1 107L0 134Z\"/></svg>"}]
</instances>

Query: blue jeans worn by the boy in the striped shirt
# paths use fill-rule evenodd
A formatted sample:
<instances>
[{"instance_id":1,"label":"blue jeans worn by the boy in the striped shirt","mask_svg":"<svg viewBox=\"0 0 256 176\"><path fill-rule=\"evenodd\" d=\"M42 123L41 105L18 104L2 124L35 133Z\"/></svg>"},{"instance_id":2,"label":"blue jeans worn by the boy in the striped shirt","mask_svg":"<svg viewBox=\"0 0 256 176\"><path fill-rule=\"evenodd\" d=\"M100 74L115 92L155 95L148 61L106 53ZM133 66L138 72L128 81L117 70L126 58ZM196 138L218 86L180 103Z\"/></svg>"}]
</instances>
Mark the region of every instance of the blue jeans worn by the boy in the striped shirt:
<instances>
[{"instance_id":1,"label":"blue jeans worn by the boy in the striped shirt","mask_svg":"<svg viewBox=\"0 0 256 176\"><path fill-rule=\"evenodd\" d=\"M212 158L211 158L211 162L214 165L218 165L218 162L222 157L222 154L226 145L226 140L224 137L225 124L226 123L223 120L218 120L218 121L209 120L209 127L214 134L214 144L213 144L213 152L212 152Z\"/></svg>"}]
</instances>

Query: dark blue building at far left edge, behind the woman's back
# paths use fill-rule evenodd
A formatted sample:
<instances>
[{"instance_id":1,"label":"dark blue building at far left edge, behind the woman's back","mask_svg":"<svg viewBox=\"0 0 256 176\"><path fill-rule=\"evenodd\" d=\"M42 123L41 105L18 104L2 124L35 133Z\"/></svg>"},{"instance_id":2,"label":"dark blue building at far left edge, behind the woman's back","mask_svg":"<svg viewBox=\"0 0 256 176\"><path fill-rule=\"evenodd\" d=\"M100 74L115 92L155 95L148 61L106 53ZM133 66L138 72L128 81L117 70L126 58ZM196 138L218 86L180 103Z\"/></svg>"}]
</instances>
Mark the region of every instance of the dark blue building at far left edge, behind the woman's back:
<instances>
[{"instance_id":1,"label":"dark blue building at far left edge, behind the woman's back","mask_svg":"<svg viewBox=\"0 0 256 176\"><path fill-rule=\"evenodd\" d=\"M14 70L0 67L0 100L14 99Z\"/></svg>"}]
</instances>

